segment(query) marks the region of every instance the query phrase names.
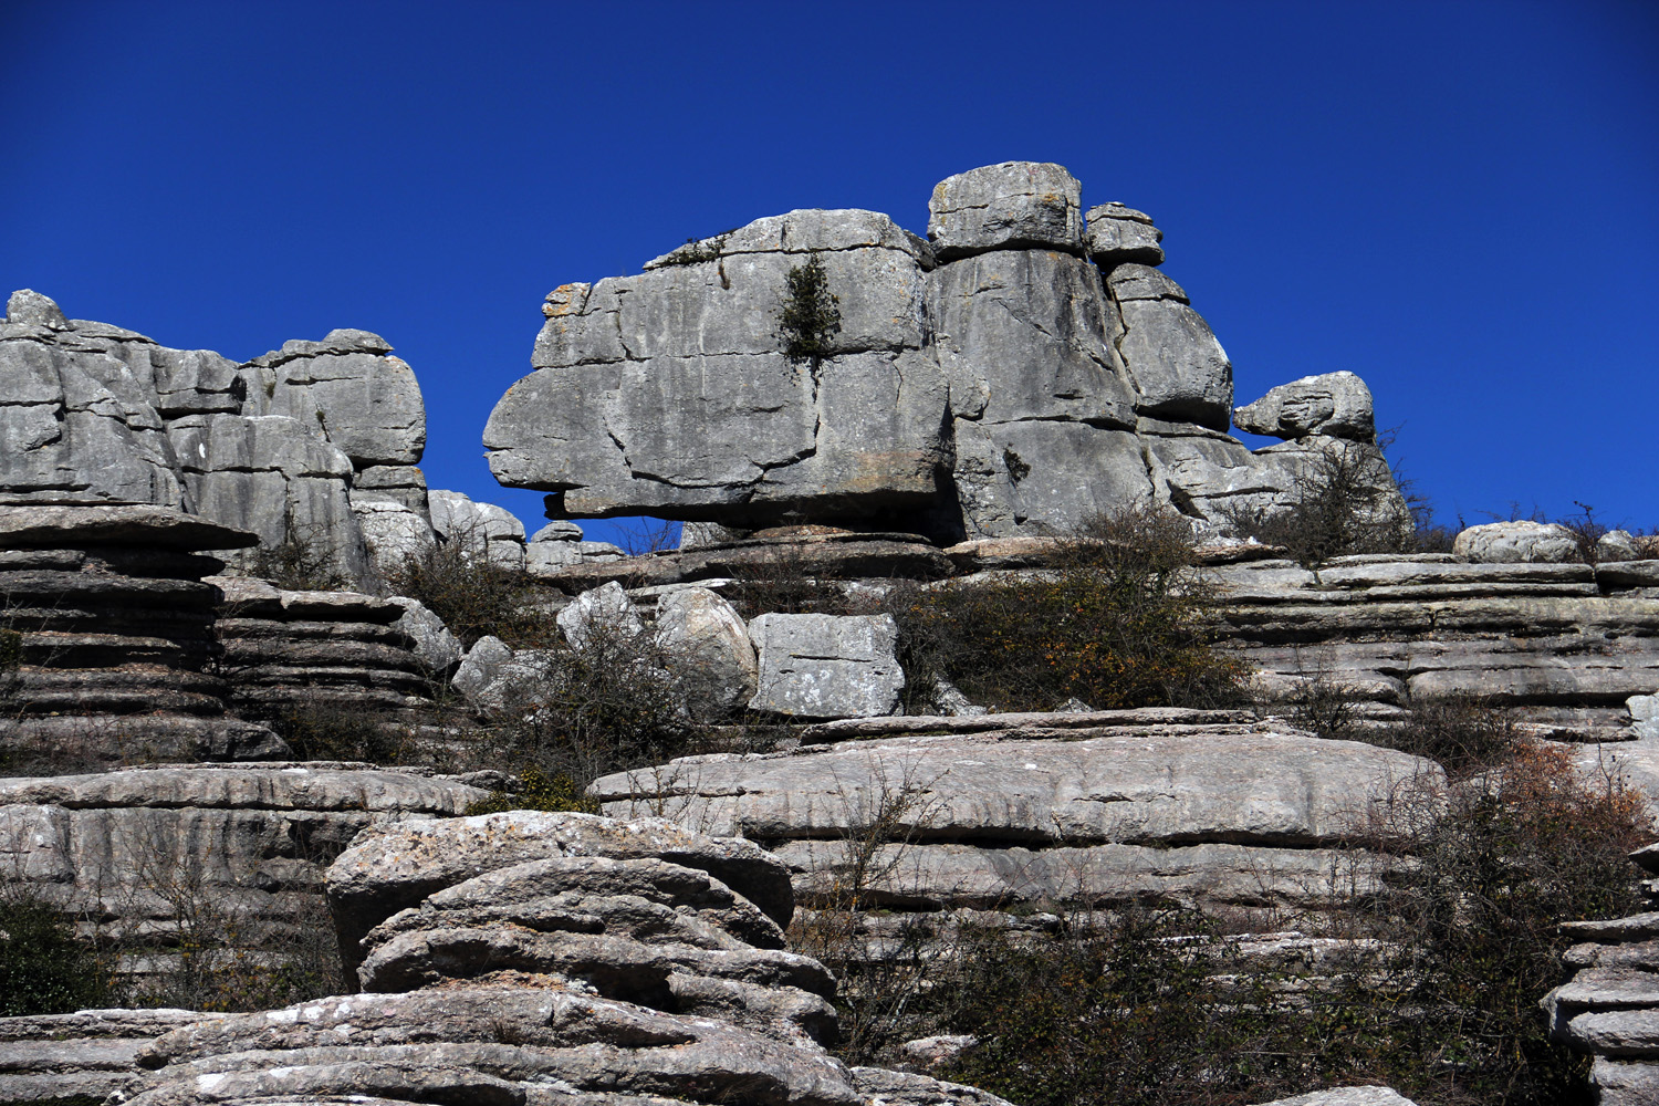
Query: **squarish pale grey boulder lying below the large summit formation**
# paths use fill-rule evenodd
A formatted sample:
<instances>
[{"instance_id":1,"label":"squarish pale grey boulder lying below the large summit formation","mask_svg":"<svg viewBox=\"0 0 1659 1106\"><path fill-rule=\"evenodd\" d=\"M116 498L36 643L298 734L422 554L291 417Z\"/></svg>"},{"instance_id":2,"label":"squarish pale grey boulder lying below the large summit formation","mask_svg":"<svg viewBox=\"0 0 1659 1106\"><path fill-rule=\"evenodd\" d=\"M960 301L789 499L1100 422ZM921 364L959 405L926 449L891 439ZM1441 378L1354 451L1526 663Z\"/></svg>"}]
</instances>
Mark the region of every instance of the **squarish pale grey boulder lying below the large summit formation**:
<instances>
[{"instance_id":1,"label":"squarish pale grey boulder lying below the large summit formation","mask_svg":"<svg viewBox=\"0 0 1659 1106\"><path fill-rule=\"evenodd\" d=\"M889 715L904 688L893 615L760 615L753 710L796 718Z\"/></svg>"}]
</instances>

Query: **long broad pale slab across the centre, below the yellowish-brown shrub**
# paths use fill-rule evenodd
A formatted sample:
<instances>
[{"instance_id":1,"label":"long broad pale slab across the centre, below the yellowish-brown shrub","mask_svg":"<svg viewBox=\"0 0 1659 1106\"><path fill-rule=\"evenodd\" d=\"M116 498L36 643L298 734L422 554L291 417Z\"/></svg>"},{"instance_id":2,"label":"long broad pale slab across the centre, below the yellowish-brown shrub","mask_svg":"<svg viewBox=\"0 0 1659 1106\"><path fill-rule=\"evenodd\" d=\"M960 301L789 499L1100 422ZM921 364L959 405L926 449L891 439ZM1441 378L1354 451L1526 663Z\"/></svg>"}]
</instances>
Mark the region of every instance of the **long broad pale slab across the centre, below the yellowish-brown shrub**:
<instances>
[{"instance_id":1,"label":"long broad pale slab across the centre, below the yellowish-brown shrub","mask_svg":"<svg viewBox=\"0 0 1659 1106\"><path fill-rule=\"evenodd\" d=\"M858 738L858 740L854 740ZM599 779L607 814L669 809L740 834L823 900L861 847L863 889L899 910L1319 905L1374 803L1438 768L1321 741L1243 711L878 718L803 731L788 753L692 756ZM881 824L888 842L859 834ZM1385 864L1362 862L1360 880Z\"/></svg>"}]
</instances>

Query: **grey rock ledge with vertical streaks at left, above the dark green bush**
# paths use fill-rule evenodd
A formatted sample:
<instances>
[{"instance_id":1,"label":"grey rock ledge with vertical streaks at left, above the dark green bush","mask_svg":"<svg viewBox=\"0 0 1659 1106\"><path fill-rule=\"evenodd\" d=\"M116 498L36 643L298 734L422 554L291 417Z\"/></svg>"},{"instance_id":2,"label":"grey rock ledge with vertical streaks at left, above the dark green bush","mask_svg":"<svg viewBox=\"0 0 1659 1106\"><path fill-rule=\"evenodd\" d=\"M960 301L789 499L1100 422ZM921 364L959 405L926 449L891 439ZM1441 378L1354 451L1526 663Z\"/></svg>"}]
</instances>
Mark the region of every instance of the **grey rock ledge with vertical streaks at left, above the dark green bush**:
<instances>
[{"instance_id":1,"label":"grey rock ledge with vertical streaks at left, above the dark green bush","mask_svg":"<svg viewBox=\"0 0 1659 1106\"><path fill-rule=\"evenodd\" d=\"M322 867L365 827L453 816L488 791L367 764L178 764L0 779L0 871L106 937L212 910L254 947L317 925ZM324 922L327 924L327 922Z\"/></svg>"}]
</instances>

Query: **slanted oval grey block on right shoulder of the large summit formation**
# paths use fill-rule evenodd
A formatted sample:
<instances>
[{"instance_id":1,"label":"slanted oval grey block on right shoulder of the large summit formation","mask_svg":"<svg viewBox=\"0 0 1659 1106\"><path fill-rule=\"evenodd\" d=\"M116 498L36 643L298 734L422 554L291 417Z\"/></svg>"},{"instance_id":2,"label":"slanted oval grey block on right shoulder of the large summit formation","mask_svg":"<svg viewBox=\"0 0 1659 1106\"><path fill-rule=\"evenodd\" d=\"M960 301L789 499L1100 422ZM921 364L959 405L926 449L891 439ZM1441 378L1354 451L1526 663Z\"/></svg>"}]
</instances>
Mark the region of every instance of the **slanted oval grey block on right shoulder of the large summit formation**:
<instances>
[{"instance_id":1,"label":"slanted oval grey block on right shoulder of the large summit formation","mask_svg":"<svg viewBox=\"0 0 1659 1106\"><path fill-rule=\"evenodd\" d=\"M1150 295L1146 285L1168 285ZM1123 332L1118 355L1138 393L1136 411L1226 431L1233 363L1185 293L1156 269L1118 265L1107 279Z\"/></svg>"}]
</instances>

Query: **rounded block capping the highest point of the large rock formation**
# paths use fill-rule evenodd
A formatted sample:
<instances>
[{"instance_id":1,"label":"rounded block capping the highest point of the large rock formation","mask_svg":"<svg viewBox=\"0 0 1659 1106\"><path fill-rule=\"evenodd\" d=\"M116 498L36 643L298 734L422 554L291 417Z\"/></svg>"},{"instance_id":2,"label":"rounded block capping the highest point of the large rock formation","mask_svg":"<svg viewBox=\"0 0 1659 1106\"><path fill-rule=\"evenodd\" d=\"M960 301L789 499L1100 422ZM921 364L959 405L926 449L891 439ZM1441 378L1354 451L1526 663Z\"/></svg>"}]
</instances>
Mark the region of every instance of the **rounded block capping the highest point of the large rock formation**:
<instances>
[{"instance_id":1,"label":"rounded block capping the highest point of the large rock formation","mask_svg":"<svg viewBox=\"0 0 1659 1106\"><path fill-rule=\"evenodd\" d=\"M934 186L927 240L939 260L994 249L1082 252L1082 186L1063 166L1004 161Z\"/></svg>"}]
</instances>

